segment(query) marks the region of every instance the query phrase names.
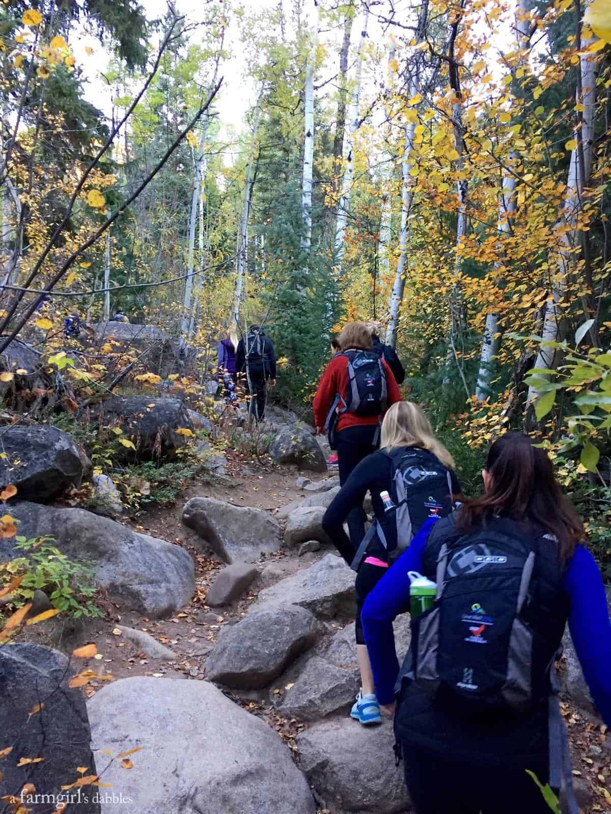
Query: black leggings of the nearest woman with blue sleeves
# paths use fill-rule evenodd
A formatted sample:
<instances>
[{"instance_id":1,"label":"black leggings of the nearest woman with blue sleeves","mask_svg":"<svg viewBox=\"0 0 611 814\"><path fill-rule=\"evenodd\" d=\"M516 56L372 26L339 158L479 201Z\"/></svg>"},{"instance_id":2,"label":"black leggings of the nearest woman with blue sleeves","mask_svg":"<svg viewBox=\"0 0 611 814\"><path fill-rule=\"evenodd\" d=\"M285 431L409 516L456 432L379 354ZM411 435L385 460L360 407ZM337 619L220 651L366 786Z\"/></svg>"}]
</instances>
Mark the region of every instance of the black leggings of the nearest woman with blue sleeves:
<instances>
[{"instance_id":1,"label":"black leggings of the nearest woman with blue sleeves","mask_svg":"<svg viewBox=\"0 0 611 814\"><path fill-rule=\"evenodd\" d=\"M402 744L405 781L418 814L549 814L532 777L547 783L547 761L525 768L451 760Z\"/></svg>"}]
</instances>

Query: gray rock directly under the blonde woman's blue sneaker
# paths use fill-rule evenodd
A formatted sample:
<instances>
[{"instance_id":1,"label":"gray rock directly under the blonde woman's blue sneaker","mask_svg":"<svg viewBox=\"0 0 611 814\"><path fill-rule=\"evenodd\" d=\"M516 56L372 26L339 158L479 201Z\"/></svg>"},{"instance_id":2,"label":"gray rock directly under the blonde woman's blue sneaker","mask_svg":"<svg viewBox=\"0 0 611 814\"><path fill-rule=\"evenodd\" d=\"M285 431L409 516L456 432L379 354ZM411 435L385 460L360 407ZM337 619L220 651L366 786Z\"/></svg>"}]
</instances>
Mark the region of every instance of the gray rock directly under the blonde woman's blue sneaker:
<instances>
[{"instance_id":1,"label":"gray rock directly under the blonde woman's blue sneaker","mask_svg":"<svg viewBox=\"0 0 611 814\"><path fill-rule=\"evenodd\" d=\"M333 814L410 811L402 767L394 765L393 724L364 727L345 716L296 738L301 770Z\"/></svg>"}]
</instances>

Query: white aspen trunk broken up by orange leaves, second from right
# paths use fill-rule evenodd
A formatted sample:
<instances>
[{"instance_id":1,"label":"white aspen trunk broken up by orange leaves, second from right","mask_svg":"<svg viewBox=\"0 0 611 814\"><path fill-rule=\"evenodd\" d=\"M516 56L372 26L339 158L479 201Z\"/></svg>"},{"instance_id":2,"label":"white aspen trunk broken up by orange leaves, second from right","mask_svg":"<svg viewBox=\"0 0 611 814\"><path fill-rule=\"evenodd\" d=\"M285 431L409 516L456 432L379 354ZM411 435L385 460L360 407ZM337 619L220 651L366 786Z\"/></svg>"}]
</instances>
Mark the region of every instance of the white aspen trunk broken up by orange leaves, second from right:
<instances>
[{"instance_id":1,"label":"white aspen trunk broken up by orange leaves, second from right","mask_svg":"<svg viewBox=\"0 0 611 814\"><path fill-rule=\"evenodd\" d=\"M526 51L530 48L530 19L529 0L516 0L516 33L517 46L521 51L520 59L516 65L520 67L526 58ZM519 159L517 151L512 151L509 155L508 164L516 164ZM516 176L509 171L503 175L503 188L499 196L499 220L497 231L499 235L507 234L512 230L512 218L516 212ZM503 265L503 260L495 263L495 272L499 266ZM496 274L495 274L496 277ZM490 395L490 383L493 377L493 366L495 358L499 354L501 337L499 333L499 319L494 309L486 313L486 326L481 339L480 366L477 372L477 385L475 395L478 401L486 400Z\"/></svg>"}]
</instances>

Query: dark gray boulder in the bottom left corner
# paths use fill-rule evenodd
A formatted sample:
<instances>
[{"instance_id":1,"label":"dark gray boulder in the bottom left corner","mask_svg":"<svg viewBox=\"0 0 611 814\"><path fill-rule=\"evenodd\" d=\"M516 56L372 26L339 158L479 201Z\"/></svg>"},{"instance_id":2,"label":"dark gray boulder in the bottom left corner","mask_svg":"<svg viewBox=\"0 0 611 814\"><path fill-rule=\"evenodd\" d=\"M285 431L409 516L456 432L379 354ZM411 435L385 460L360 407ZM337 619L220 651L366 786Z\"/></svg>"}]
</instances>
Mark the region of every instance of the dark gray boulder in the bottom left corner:
<instances>
[{"instance_id":1,"label":"dark gray boulder in the bottom left corner","mask_svg":"<svg viewBox=\"0 0 611 814\"><path fill-rule=\"evenodd\" d=\"M48 647L15 644L0 648L0 739L2 749L12 747L2 759L2 794L19 794L25 783L33 783L36 794L62 798L61 786L80 777L77 766L86 767L86 775L96 774L90 748L90 728L80 689L69 689L68 680L78 667L68 665L64 654ZM44 706L33 712L37 704ZM18 767L22 757L42 758L36 764ZM64 792L63 801L68 797ZM27 805L51 812L55 805ZM6 807L7 811L12 807ZM98 814L95 803L71 802L68 810L76 814Z\"/></svg>"}]
</instances>

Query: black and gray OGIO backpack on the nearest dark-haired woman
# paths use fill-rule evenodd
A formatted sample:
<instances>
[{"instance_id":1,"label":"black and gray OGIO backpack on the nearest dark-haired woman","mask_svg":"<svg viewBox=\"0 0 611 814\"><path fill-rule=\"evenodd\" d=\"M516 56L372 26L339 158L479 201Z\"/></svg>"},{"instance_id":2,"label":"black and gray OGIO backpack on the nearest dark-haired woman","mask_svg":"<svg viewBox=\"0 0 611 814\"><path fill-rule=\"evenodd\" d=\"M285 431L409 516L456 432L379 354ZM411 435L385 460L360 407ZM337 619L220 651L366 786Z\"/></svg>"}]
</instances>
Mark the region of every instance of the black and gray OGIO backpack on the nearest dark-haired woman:
<instances>
[{"instance_id":1,"label":"black and gray OGIO backpack on the nearest dark-haired woman","mask_svg":"<svg viewBox=\"0 0 611 814\"><path fill-rule=\"evenodd\" d=\"M530 607L536 549L536 538L509 519L447 536L436 602L412 620L402 677L479 713L525 711L547 695L557 642L547 632L555 622Z\"/></svg>"}]
</instances>

